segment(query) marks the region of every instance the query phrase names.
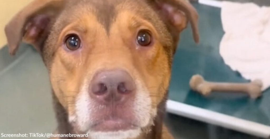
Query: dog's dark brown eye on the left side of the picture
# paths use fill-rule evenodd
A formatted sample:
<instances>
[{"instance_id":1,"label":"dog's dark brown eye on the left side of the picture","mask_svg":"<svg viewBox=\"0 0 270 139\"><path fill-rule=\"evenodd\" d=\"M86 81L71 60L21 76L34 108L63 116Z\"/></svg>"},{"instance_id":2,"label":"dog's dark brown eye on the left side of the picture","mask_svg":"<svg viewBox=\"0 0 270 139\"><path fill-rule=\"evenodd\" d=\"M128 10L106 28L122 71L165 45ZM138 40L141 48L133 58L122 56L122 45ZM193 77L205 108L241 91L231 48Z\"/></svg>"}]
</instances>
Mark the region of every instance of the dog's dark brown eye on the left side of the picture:
<instances>
[{"instance_id":1,"label":"dog's dark brown eye on the left side of the picture","mask_svg":"<svg viewBox=\"0 0 270 139\"><path fill-rule=\"evenodd\" d=\"M80 48L80 45L81 45L80 38L79 38L79 36L77 36L75 34L70 35L66 39L66 47L69 50L72 50L72 51L77 50Z\"/></svg>"}]
</instances>

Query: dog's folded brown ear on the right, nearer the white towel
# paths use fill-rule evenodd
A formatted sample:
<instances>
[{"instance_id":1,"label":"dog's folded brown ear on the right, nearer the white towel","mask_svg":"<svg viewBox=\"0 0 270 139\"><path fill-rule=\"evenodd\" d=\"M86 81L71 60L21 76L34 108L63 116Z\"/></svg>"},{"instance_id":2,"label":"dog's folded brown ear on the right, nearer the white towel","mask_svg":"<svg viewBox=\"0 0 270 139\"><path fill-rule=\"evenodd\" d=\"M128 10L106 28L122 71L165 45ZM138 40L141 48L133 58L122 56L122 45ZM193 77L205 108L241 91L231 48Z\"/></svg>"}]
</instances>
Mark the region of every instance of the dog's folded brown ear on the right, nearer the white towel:
<instances>
[{"instance_id":1,"label":"dog's folded brown ear on the right, nearer the white towel","mask_svg":"<svg viewBox=\"0 0 270 139\"><path fill-rule=\"evenodd\" d=\"M198 30L198 13L186 0L152 0L157 4L158 10L164 20L170 24L169 30L179 37L180 32L186 28L188 21L191 23L193 38L200 42ZM176 39L178 39L176 37Z\"/></svg>"}]
</instances>

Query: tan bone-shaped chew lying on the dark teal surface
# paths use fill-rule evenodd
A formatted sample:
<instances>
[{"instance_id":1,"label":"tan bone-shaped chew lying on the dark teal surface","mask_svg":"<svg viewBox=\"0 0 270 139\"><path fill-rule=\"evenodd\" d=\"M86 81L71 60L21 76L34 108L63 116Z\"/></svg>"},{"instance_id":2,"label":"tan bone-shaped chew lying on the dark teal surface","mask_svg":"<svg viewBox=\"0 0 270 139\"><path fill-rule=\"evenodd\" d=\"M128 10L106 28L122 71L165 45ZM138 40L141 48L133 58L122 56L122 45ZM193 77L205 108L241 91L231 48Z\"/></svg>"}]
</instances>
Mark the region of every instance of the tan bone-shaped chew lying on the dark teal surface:
<instances>
[{"instance_id":1,"label":"tan bone-shaped chew lying on the dark teal surface","mask_svg":"<svg viewBox=\"0 0 270 139\"><path fill-rule=\"evenodd\" d=\"M247 93L254 99L262 95L261 80L255 80L250 83L221 83L208 82L201 75L193 75L190 79L190 87L204 96L210 95L213 91Z\"/></svg>"}]
</instances>

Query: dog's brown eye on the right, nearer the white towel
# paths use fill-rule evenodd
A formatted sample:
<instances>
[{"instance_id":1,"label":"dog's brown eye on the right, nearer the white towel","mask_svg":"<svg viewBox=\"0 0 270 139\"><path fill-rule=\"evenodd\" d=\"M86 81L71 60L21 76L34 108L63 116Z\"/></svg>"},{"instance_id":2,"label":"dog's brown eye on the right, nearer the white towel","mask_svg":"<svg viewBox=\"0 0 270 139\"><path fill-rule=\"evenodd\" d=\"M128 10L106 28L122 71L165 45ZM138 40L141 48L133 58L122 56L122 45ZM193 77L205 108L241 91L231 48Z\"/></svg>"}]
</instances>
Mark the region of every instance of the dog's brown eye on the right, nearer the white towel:
<instances>
[{"instance_id":1,"label":"dog's brown eye on the right, nearer the white towel","mask_svg":"<svg viewBox=\"0 0 270 139\"><path fill-rule=\"evenodd\" d=\"M149 46L152 41L152 36L149 31L141 30L137 36L137 43L140 46Z\"/></svg>"}]
</instances>

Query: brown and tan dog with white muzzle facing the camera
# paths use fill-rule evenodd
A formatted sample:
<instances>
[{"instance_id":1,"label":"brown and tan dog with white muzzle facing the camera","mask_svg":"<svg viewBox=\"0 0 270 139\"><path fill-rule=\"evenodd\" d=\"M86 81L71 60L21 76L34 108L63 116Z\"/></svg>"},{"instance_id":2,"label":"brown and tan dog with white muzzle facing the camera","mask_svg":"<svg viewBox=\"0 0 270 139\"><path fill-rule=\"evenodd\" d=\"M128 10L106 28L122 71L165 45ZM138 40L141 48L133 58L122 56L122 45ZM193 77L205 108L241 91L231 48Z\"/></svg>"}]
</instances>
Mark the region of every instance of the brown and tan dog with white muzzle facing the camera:
<instances>
[{"instance_id":1,"label":"brown and tan dog with white muzzle facing the camera","mask_svg":"<svg viewBox=\"0 0 270 139\"><path fill-rule=\"evenodd\" d=\"M58 133L91 139L171 139L163 125L171 64L190 21L184 0L35 0L6 26L40 52L53 89Z\"/></svg>"}]
</instances>

